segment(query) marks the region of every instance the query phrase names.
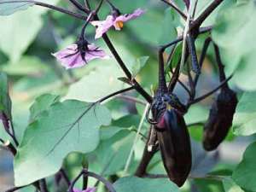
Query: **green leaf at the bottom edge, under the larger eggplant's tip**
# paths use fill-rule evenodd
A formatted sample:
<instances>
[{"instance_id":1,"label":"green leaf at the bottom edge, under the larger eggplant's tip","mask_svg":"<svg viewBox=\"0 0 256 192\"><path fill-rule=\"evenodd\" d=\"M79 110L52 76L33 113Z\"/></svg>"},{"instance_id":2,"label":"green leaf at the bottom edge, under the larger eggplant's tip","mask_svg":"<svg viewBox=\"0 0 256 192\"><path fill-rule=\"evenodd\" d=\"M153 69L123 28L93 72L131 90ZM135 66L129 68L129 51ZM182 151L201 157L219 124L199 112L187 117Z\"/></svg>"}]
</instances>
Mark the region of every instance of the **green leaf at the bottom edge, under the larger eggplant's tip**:
<instances>
[{"instance_id":1,"label":"green leaf at the bottom edge, under the larger eggplant's tip","mask_svg":"<svg viewBox=\"0 0 256 192\"><path fill-rule=\"evenodd\" d=\"M113 183L117 192L178 192L177 185L167 178L122 177Z\"/></svg>"}]
</instances>

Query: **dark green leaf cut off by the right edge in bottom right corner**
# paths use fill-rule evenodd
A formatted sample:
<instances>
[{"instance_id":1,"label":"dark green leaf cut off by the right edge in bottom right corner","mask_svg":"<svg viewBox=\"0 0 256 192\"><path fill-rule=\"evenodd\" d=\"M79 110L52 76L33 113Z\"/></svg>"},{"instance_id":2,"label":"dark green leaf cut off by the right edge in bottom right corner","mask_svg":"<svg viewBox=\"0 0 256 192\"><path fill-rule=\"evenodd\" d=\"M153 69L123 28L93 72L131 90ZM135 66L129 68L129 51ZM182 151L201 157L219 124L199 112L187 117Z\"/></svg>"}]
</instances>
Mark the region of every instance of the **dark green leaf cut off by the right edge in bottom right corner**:
<instances>
[{"instance_id":1,"label":"dark green leaf cut off by the right edge in bottom right corner","mask_svg":"<svg viewBox=\"0 0 256 192\"><path fill-rule=\"evenodd\" d=\"M256 191L256 143L250 144L243 154L241 163L233 172L232 178L243 189Z\"/></svg>"}]
</instances>

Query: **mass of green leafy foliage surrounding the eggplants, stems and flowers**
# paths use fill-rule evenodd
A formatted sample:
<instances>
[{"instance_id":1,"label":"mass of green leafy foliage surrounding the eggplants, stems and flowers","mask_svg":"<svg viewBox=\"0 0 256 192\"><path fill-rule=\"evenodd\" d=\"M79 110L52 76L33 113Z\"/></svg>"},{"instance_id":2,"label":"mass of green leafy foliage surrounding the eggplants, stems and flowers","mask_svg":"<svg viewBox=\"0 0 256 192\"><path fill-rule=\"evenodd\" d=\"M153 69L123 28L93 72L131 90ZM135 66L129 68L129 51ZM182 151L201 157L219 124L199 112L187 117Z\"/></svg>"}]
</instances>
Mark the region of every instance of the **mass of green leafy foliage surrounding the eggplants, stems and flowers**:
<instances>
[{"instance_id":1,"label":"mass of green leafy foliage surrounding the eggplants, stems and flowers","mask_svg":"<svg viewBox=\"0 0 256 192\"><path fill-rule=\"evenodd\" d=\"M95 9L100 3L89 2L91 9ZM247 144L251 144L245 150L241 162L236 159L236 165L230 162L224 164L226 162L217 155L219 148L215 151L216 155L214 152L210 155L202 152L204 124L207 122L212 100L218 96L218 92L207 96L203 102L192 103L193 96L189 97L187 90L183 89L183 86L191 88L188 79L191 72L185 67L195 64L191 60L191 51L188 52L189 57L181 63L181 70L178 72L183 85L177 83L172 91L183 104L191 102L188 111L180 110L178 113L181 115L180 119L184 118L188 125L192 154L196 157L193 159L189 181L181 189L166 178L165 167L168 162L165 161L163 165L158 148L152 149L154 157L150 157L152 160L146 165L147 170L143 174L138 167L145 163L143 151L150 148L147 143L150 125L145 118L145 109L147 103L151 108L153 105L145 95L148 94L150 98L154 96L155 99L160 87L158 65L161 60L156 48L165 48L164 44L183 38L186 20L172 6L165 4L165 1L110 2L113 2L121 14L132 13L138 8L146 10L134 20L127 23L123 20L122 24L119 23L124 25L120 27L120 31L115 31L114 27L108 30L107 38L113 48L106 36L95 39L96 28L89 23L85 35L80 35L86 23L84 18L88 14L86 7L85 10L78 11L71 1L59 0L40 0L39 4L22 0L0 2L0 25L3 26L0 31L0 142L15 156L15 186L22 187L21 191L33 191L38 182L44 182L47 178L49 191L56 188L67 190L61 175L65 171L75 187L80 189L82 179L76 182L75 178L83 169L84 177L89 176L88 184L96 184L97 191L102 192L106 191L105 187L108 188L108 185L117 192L177 192L194 191L194 188L212 192L256 191L256 143L253 136L256 132L255 1L224 1L201 24L211 26L211 32L196 34L198 31L191 30L196 34L192 38L196 39L197 57L201 57L202 44L210 37L212 44L219 48L224 73L227 77L233 73L229 84L232 90L236 90L239 102L232 130L224 142L232 144L234 140L236 142L236 137L246 137ZM188 5L188 2L194 1L173 2L187 15L185 3ZM43 3L44 8L40 3ZM44 3L69 12L65 14L45 9ZM211 2L207 0L198 1L191 26L209 6ZM113 6L108 6L107 1L103 1L98 13L101 20L113 13L114 9L111 10L111 7ZM67 47L68 44L79 44L79 40L84 44L81 37L85 38L86 44L93 43L104 49L110 59L97 59L88 63L84 61L84 67L65 70L51 53ZM186 49L183 49L183 45L181 41L175 46L166 47L162 52L163 62L166 62L167 83L175 76L172 73L179 67L185 55ZM174 52L170 57L172 48ZM195 84L195 98L219 84L218 74L221 72L219 66L215 70L218 58L215 59L212 48L207 52L198 84ZM87 49L81 51L88 54ZM96 54L96 50L94 51ZM76 54L82 55L82 52ZM167 63L168 58L171 61ZM125 72L122 62L130 74ZM196 74L193 73L192 79L195 77ZM119 92L121 94L118 96L108 96L129 87L129 93ZM105 96L107 97L104 98ZM154 116L152 110L149 119ZM166 119L162 120L165 121L164 125L170 125L165 124ZM160 122L155 126L160 126ZM145 147L145 143L148 146ZM12 151L13 148L15 151ZM200 160L195 160L197 158ZM201 167L205 165L203 162L207 158L214 163ZM223 170L229 169L230 172L212 172L212 165L216 162ZM213 168L215 169L216 167ZM194 172L201 174L193 175ZM62 178L62 183L54 183L53 177L55 180ZM96 180L103 184L96 183Z\"/></svg>"}]
</instances>

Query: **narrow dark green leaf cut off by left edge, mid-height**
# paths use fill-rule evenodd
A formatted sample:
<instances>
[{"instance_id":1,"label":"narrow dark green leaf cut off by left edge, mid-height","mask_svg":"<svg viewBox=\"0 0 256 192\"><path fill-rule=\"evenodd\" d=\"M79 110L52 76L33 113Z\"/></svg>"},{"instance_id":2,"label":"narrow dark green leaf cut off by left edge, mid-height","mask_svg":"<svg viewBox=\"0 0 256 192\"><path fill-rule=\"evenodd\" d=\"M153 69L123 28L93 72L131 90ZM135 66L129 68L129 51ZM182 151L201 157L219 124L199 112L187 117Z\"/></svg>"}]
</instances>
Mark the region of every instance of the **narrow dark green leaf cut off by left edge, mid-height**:
<instances>
[{"instance_id":1,"label":"narrow dark green leaf cut off by left edge, mid-height","mask_svg":"<svg viewBox=\"0 0 256 192\"><path fill-rule=\"evenodd\" d=\"M7 75L0 72L0 113L3 112L8 119L12 119L11 108Z\"/></svg>"}]
</instances>

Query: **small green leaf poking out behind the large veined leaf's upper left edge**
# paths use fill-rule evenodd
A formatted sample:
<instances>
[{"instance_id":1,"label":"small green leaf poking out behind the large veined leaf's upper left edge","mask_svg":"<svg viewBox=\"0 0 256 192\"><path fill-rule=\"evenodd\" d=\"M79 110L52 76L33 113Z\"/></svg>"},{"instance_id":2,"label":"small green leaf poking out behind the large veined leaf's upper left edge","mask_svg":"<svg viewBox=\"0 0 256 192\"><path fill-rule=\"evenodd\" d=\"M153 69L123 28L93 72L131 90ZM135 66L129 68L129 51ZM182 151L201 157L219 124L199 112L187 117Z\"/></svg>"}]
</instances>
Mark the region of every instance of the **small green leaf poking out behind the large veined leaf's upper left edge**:
<instances>
[{"instance_id":1,"label":"small green leaf poking out behind the large veined leaf's upper left edge","mask_svg":"<svg viewBox=\"0 0 256 192\"><path fill-rule=\"evenodd\" d=\"M60 96L44 94L42 96L38 96L35 102L32 104L30 108L30 120L38 119L38 116L43 113L45 110L48 110L49 107L55 102L59 101Z\"/></svg>"}]
</instances>

